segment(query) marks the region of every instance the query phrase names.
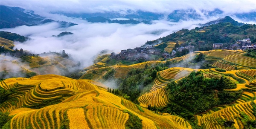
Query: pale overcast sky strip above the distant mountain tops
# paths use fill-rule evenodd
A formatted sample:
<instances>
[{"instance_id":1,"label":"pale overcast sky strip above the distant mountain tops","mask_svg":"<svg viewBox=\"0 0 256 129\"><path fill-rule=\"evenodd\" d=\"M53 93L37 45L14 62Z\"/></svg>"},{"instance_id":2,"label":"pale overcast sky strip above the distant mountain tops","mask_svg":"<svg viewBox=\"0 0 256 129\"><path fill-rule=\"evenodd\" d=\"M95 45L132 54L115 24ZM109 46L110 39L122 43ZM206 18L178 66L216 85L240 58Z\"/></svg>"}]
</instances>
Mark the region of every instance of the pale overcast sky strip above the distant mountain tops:
<instances>
[{"instance_id":1,"label":"pale overcast sky strip above the distant mountain tops","mask_svg":"<svg viewBox=\"0 0 256 129\"><path fill-rule=\"evenodd\" d=\"M50 11L102 12L143 10L170 13L175 9L213 10L225 14L256 10L256 0L1 0L6 6L19 6L37 13Z\"/></svg>"}]
</instances>

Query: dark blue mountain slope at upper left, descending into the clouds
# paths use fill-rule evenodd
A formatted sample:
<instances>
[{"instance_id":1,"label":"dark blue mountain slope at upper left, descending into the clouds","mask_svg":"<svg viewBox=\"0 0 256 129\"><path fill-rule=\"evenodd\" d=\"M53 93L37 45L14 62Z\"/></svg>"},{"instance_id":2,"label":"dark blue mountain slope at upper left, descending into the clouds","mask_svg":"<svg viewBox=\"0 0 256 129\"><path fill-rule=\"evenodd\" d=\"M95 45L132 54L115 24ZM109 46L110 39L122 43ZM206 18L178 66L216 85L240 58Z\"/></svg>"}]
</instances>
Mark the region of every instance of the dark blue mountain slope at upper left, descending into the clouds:
<instances>
[{"instance_id":1,"label":"dark blue mountain slope at upper left, descending into the clouds","mask_svg":"<svg viewBox=\"0 0 256 129\"><path fill-rule=\"evenodd\" d=\"M75 23L67 23L64 21L55 21L50 19L45 19L33 11L26 11L20 7L9 7L0 5L0 29L2 28L13 28L16 26L37 26L44 23L57 22L60 24L61 28L66 28L70 26L75 26Z\"/></svg>"}]
</instances>

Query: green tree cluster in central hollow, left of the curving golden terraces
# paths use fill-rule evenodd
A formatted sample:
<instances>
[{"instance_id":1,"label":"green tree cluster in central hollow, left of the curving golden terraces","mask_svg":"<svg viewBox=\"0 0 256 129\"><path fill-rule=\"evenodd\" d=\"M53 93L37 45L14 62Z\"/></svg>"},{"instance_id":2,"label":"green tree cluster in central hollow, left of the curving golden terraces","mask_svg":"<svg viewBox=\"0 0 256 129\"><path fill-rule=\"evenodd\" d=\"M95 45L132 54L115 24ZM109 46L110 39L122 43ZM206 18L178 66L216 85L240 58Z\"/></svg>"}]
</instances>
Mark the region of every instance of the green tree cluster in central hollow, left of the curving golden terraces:
<instances>
[{"instance_id":1,"label":"green tree cluster in central hollow, left of the curving golden terraces","mask_svg":"<svg viewBox=\"0 0 256 129\"><path fill-rule=\"evenodd\" d=\"M108 92L115 95L123 96L127 100L138 103L137 98L141 95L143 89L150 86L154 79L157 77L157 72L168 69L170 62L160 64L155 67L145 65L144 69L131 69L124 79L115 80L116 89L108 88ZM114 79L114 71L110 70L103 78Z\"/></svg>"}]
</instances>

